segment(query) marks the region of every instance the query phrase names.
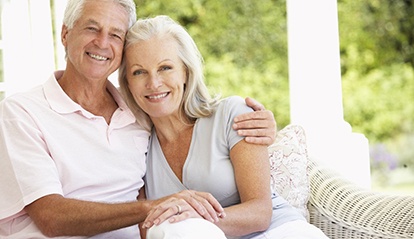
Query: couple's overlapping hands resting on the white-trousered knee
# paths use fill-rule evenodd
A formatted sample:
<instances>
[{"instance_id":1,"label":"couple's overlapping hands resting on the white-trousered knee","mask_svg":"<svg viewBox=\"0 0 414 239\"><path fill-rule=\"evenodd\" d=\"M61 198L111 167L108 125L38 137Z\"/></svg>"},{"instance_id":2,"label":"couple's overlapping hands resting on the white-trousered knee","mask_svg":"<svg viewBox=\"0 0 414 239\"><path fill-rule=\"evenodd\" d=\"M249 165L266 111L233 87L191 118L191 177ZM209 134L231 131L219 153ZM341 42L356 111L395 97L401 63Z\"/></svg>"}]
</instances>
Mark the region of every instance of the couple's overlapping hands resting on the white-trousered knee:
<instances>
[{"instance_id":1,"label":"couple's overlapping hands resting on the white-trousered knee","mask_svg":"<svg viewBox=\"0 0 414 239\"><path fill-rule=\"evenodd\" d=\"M224 209L210 193L184 190L161 201L148 213L143 228L159 225L165 220L179 222L187 218L204 218L217 222L225 217Z\"/></svg>"}]
</instances>

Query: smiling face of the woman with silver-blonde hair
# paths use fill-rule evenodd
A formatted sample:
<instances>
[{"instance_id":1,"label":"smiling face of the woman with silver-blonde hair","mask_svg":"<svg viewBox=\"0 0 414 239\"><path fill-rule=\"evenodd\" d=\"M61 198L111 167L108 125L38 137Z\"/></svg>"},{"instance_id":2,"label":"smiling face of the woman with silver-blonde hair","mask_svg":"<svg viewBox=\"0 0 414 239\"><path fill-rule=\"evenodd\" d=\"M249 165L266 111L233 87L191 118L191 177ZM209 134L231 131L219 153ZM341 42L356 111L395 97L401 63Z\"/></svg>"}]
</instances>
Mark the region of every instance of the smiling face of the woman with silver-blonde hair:
<instances>
[{"instance_id":1,"label":"smiling face of the woman with silver-blonde hair","mask_svg":"<svg viewBox=\"0 0 414 239\"><path fill-rule=\"evenodd\" d=\"M125 53L129 89L151 119L178 116L186 70L170 36L152 37L129 46Z\"/></svg>"}]
</instances>

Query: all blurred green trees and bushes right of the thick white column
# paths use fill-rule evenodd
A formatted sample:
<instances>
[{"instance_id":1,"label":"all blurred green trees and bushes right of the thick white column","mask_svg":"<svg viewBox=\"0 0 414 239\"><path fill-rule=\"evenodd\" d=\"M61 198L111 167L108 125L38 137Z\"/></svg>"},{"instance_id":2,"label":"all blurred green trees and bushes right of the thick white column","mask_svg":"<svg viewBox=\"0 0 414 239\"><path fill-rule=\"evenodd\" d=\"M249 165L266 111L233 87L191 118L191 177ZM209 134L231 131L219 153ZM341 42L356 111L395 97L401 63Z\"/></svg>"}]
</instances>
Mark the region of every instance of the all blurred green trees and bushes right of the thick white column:
<instances>
[{"instance_id":1,"label":"all blurred green trees and bushes right of the thick white column","mask_svg":"<svg viewBox=\"0 0 414 239\"><path fill-rule=\"evenodd\" d=\"M346 120L370 141L412 133L412 1L342 0L338 9Z\"/></svg>"}]
</instances>

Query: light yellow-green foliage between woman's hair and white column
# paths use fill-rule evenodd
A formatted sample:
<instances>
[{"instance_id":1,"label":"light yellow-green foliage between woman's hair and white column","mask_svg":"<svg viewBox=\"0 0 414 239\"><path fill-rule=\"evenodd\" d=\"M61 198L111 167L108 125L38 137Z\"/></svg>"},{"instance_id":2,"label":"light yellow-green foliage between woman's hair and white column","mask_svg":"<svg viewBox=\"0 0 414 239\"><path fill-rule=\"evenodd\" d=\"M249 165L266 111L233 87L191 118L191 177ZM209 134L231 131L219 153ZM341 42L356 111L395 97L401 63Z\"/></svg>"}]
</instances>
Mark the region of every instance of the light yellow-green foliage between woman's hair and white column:
<instances>
[{"instance_id":1,"label":"light yellow-green foliage between woman's hair and white column","mask_svg":"<svg viewBox=\"0 0 414 239\"><path fill-rule=\"evenodd\" d=\"M240 68L229 55L206 60L206 82L213 93L223 97L240 95L259 100L272 110L279 128L289 122L288 82L277 68L277 63L268 62L262 71L254 65Z\"/></svg>"}]
</instances>

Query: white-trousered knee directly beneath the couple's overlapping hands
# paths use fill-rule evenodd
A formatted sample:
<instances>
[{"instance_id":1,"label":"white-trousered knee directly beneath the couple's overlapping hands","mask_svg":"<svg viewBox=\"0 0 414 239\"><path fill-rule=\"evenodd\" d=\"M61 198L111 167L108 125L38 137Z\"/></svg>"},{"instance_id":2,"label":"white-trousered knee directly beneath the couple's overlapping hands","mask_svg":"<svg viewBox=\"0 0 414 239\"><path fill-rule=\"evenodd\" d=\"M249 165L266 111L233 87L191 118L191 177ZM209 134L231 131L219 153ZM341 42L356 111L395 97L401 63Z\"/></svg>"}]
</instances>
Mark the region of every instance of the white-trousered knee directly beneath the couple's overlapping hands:
<instances>
[{"instance_id":1,"label":"white-trousered knee directly beneath the couple's overlapping hands","mask_svg":"<svg viewBox=\"0 0 414 239\"><path fill-rule=\"evenodd\" d=\"M219 227L205 219L189 218L153 226L147 231L147 239L226 239L226 236Z\"/></svg>"}]
</instances>

